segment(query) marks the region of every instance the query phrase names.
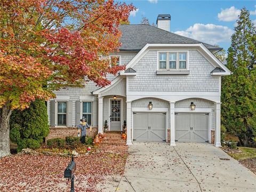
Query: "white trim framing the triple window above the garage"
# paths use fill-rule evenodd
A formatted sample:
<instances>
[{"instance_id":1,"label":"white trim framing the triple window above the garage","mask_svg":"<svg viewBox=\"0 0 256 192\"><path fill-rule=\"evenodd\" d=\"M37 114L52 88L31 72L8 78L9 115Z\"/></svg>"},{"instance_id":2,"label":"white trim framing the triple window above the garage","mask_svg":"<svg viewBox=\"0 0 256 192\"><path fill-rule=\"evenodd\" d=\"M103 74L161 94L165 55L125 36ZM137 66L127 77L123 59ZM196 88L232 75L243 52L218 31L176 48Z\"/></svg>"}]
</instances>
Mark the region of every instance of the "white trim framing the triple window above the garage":
<instances>
[{"instance_id":1,"label":"white trim framing the triple window above the garage","mask_svg":"<svg viewBox=\"0 0 256 192\"><path fill-rule=\"evenodd\" d=\"M176 53L176 69L169 69L169 53L175 52ZM166 55L166 68L167 69L160 69L159 68L159 53L167 53ZM185 69L179 69L179 53L186 53L187 54L187 62ZM161 50L157 51L157 70L189 70L189 51L188 50Z\"/></svg>"}]
</instances>

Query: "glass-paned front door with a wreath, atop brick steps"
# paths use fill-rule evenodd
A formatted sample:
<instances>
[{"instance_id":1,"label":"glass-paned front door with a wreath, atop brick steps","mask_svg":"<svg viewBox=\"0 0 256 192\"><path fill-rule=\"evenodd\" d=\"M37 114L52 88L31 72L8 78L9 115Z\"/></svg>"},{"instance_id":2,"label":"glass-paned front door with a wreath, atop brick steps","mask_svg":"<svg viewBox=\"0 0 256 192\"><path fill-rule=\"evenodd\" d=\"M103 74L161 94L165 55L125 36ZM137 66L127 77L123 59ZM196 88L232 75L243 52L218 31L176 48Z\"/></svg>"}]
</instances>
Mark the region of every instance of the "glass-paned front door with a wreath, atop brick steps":
<instances>
[{"instance_id":1,"label":"glass-paned front door with a wreath, atop brick steps","mask_svg":"<svg viewBox=\"0 0 256 192\"><path fill-rule=\"evenodd\" d=\"M121 100L110 100L110 131L121 131Z\"/></svg>"}]
</instances>

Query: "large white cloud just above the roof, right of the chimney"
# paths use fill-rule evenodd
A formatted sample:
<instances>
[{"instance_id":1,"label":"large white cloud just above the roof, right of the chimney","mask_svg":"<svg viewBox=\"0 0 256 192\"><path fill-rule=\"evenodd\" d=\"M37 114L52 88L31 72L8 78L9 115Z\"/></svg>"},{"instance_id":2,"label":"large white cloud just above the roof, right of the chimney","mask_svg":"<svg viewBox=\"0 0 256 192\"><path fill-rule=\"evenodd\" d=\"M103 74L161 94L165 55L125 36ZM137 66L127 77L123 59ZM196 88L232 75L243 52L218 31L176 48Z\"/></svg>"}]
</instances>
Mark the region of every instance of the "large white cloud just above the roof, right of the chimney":
<instances>
[{"instance_id":1,"label":"large white cloud just above the roof, right of the chimney","mask_svg":"<svg viewBox=\"0 0 256 192\"><path fill-rule=\"evenodd\" d=\"M220 42L229 42L233 30L226 26L195 23L185 31L175 31L174 33L215 45Z\"/></svg>"}]
</instances>

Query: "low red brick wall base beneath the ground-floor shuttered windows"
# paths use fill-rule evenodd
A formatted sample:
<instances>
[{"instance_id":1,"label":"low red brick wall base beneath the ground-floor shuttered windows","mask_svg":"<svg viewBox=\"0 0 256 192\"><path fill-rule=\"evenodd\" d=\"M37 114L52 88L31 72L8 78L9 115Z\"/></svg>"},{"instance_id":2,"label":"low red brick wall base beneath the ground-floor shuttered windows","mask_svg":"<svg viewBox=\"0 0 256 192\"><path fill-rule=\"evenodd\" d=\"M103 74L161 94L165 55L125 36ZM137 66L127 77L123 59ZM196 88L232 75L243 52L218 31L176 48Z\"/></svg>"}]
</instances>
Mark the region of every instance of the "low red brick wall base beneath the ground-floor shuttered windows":
<instances>
[{"instance_id":1,"label":"low red brick wall base beneath the ground-floor shuttered windows","mask_svg":"<svg viewBox=\"0 0 256 192\"><path fill-rule=\"evenodd\" d=\"M81 132L81 130L79 130ZM50 133L45 138L45 141L53 138L65 138L67 136L77 137L77 127L50 127ZM92 131L90 129L86 129L86 133L89 137L94 137L98 134L98 128L92 127Z\"/></svg>"}]
</instances>

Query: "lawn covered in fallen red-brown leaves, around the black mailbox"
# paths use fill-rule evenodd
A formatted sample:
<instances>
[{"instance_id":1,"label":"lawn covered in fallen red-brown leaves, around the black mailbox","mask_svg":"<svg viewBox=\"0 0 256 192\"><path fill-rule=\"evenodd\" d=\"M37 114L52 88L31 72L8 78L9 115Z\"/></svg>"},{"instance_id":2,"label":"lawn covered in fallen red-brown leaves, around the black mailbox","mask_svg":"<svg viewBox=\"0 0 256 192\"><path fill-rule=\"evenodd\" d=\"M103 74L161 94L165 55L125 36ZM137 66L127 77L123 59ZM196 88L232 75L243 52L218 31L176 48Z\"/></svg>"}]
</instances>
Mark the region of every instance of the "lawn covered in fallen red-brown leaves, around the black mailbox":
<instances>
[{"instance_id":1,"label":"lawn covered in fallen red-brown leaves, around the black mailbox","mask_svg":"<svg viewBox=\"0 0 256 192\"><path fill-rule=\"evenodd\" d=\"M107 175L122 175L127 146L100 146L90 155L75 157L75 191L100 191ZM0 159L0 191L70 191L63 172L70 158L12 155Z\"/></svg>"}]
</instances>

